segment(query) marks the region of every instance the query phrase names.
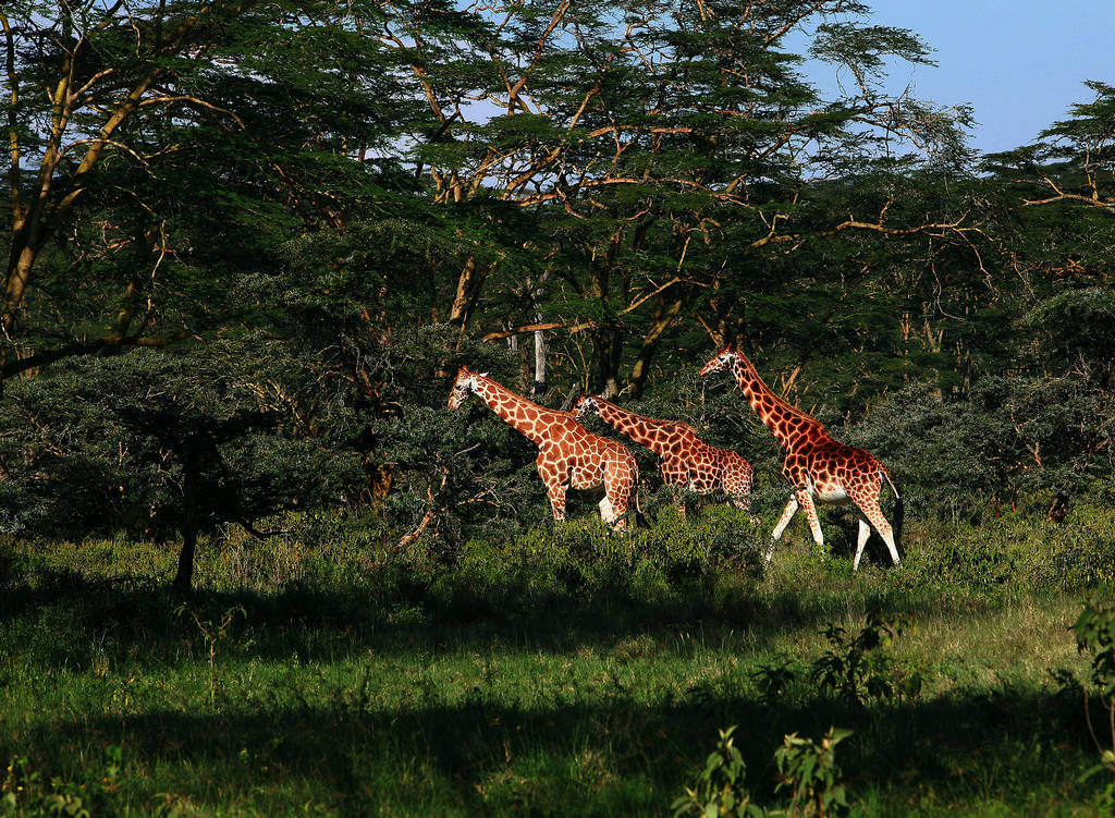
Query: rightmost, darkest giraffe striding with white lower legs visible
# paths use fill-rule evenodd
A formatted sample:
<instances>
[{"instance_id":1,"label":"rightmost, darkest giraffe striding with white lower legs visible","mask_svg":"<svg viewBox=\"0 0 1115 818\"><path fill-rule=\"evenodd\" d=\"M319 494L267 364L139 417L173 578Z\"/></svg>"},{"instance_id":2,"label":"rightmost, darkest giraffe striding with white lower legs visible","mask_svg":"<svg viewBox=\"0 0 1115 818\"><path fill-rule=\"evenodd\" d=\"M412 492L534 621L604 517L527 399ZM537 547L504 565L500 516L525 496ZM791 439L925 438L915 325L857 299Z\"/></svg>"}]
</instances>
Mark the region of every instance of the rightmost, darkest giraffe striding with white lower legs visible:
<instances>
[{"instance_id":1,"label":"rightmost, darkest giraffe striding with white lower legs visible","mask_svg":"<svg viewBox=\"0 0 1115 818\"><path fill-rule=\"evenodd\" d=\"M782 513L782 519L770 535L767 562L774 556L775 543L789 525L798 506L805 509L813 541L817 545L824 543L821 521L814 507L816 501L824 504L852 502L863 514L860 518L860 533L852 570L860 568L860 558L863 556L867 537L871 536L871 526L874 526L879 536L883 538L894 565L899 565L895 535L901 535L902 529L902 498L894 488L886 468L862 449L833 440L820 421L783 401L763 382L754 364L730 345L712 356L701 367L700 374L704 376L725 369L731 372L739 391L744 393L755 414L786 450L782 473L793 487L793 493ZM882 489L880 478L885 478L891 491L894 492L895 529L891 528L879 508Z\"/></svg>"}]
</instances>

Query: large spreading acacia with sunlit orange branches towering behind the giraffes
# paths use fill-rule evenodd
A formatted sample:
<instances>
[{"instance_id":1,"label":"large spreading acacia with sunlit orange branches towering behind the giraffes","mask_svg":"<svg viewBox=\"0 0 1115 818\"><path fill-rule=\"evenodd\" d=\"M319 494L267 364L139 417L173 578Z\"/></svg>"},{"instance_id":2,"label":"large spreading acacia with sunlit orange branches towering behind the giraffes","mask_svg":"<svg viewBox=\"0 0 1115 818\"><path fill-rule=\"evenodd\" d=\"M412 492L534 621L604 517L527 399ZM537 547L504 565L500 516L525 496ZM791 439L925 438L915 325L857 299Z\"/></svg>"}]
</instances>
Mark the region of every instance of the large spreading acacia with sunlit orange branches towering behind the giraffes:
<instances>
[{"instance_id":1,"label":"large spreading acacia with sunlit orange branches towering behind the giraffes","mask_svg":"<svg viewBox=\"0 0 1115 818\"><path fill-rule=\"evenodd\" d=\"M491 306L488 340L586 334L595 387L620 388L634 336L630 381L641 391L662 334L707 292L735 305L749 268L772 254L851 232L968 243L976 229L964 212L899 222L894 198L845 198L836 218L811 211L825 179L913 167L879 161L896 138L934 167L969 158L966 109L882 92L889 59L927 61L928 50L909 31L864 25L862 3L384 8L381 39L413 58L433 115L410 157L434 199L497 199L535 213L533 232L505 240L535 251L530 276L546 271L542 297L516 264L493 278L494 264L469 260L452 321L464 328ZM847 73L840 98L823 99L797 71L787 41L803 29L813 58ZM517 295L485 302L485 289L500 288ZM723 334L733 319L712 320Z\"/></svg>"}]
</instances>

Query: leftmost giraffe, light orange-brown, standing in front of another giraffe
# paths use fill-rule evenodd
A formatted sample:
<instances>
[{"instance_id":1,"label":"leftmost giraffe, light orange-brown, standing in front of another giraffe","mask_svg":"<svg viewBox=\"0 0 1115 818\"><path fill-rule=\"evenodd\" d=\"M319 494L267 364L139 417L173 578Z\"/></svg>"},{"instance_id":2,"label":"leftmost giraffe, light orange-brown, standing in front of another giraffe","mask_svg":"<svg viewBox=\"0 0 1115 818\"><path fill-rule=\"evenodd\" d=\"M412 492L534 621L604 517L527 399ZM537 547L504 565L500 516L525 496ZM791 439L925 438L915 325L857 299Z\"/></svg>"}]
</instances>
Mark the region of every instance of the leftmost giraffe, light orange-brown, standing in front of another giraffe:
<instances>
[{"instance_id":1,"label":"leftmost giraffe, light orange-brown, standing in front of another giraffe","mask_svg":"<svg viewBox=\"0 0 1115 818\"><path fill-rule=\"evenodd\" d=\"M624 514L639 480L639 466L623 444L593 434L569 412L539 406L465 366L457 372L449 391L449 408L459 408L474 392L488 408L539 448L534 463L545 483L554 520L565 519L566 489L603 487L601 519L617 531L627 527ZM636 504L638 507L638 497Z\"/></svg>"}]
</instances>

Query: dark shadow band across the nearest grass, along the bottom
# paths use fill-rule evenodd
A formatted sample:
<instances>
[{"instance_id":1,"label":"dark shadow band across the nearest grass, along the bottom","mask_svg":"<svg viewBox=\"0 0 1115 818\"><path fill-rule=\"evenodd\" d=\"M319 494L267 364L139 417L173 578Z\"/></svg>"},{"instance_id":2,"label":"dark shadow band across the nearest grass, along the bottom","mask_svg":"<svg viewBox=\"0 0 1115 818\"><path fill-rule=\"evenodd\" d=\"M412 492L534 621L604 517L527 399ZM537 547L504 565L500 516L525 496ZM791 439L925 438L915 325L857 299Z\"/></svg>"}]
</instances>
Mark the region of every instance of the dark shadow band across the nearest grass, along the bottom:
<instances>
[{"instance_id":1,"label":"dark shadow band across the nearest grass, along the bottom","mask_svg":"<svg viewBox=\"0 0 1115 818\"><path fill-rule=\"evenodd\" d=\"M381 710L374 691L353 689L316 706L240 704L212 715L59 720L13 738L17 748L39 748L36 763L54 774L94 758L91 748L118 744L140 778L157 776L145 786L159 791L243 803L285 787L345 814L426 799L437 814L661 815L729 724L739 725L747 787L767 805L783 798L772 754L784 734L820 738L834 724L855 731L837 752L846 782L853 793L870 791L884 814L904 815L914 798L941 809L993 800L1022 814L1035 798L1087 803L1096 791L1078 780L1094 759L1078 702L1058 696L861 710L708 696L644 705L622 695L524 709L477 695L459 706Z\"/></svg>"}]
</instances>

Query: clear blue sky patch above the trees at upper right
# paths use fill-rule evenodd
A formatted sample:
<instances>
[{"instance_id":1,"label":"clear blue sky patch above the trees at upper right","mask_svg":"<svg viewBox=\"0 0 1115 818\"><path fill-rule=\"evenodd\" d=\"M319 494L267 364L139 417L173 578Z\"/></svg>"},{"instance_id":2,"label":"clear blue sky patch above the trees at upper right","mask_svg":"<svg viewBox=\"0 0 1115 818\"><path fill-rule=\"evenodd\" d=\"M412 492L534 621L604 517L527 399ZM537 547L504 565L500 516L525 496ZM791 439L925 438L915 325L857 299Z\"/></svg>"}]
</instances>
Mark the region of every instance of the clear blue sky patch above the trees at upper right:
<instances>
[{"instance_id":1,"label":"clear blue sky patch above the trees at upper right","mask_svg":"<svg viewBox=\"0 0 1115 818\"><path fill-rule=\"evenodd\" d=\"M934 49L935 67L899 66L890 78L939 105L970 104L983 153L1068 118L1093 98L1084 80L1115 85L1115 0L875 0L871 20Z\"/></svg>"}]
</instances>

